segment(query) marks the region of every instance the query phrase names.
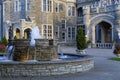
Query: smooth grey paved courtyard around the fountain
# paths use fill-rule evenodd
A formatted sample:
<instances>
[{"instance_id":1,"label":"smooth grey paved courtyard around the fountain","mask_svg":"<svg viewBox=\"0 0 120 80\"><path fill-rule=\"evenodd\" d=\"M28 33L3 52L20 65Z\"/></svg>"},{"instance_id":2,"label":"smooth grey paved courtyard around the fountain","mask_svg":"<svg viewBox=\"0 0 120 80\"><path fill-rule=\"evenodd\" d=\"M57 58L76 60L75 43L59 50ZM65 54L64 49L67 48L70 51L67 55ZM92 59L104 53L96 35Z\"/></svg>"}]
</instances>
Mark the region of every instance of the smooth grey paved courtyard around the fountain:
<instances>
[{"instance_id":1,"label":"smooth grey paved courtyard around the fountain","mask_svg":"<svg viewBox=\"0 0 120 80\"><path fill-rule=\"evenodd\" d=\"M63 47L63 52L75 53L74 47ZM120 62L108 60L115 57L112 49L86 49L88 55L92 55L95 61L94 69L75 74L47 77L8 77L0 80L120 80Z\"/></svg>"}]
</instances>

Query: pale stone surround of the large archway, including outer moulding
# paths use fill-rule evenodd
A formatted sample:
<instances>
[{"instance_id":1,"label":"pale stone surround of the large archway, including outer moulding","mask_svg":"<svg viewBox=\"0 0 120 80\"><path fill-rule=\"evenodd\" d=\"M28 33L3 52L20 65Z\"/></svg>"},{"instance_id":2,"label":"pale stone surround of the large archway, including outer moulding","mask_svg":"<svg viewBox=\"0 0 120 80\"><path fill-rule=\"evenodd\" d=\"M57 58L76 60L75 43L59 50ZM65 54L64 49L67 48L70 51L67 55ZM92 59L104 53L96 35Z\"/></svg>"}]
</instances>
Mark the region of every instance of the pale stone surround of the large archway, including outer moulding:
<instances>
[{"instance_id":1,"label":"pale stone surround of the large archway, including outer moulding","mask_svg":"<svg viewBox=\"0 0 120 80\"><path fill-rule=\"evenodd\" d=\"M93 44L95 44L97 42L96 41L96 33L95 33L97 25L102 25L102 26L107 25L106 28L105 27L102 27L102 28L105 28L105 30L111 29L111 35L110 35L111 39L108 42L113 41L113 38L114 38L114 33L113 33L114 23L113 23L113 20L114 19L115 18L113 16L106 15L106 14L96 15L96 16L94 16L90 19L90 24L89 24L89 27L87 29L87 35L89 35L88 38L92 41ZM107 42L107 40L105 40L105 39L104 39L104 41L103 40L101 41L101 43L105 43L105 42Z\"/></svg>"}]
</instances>

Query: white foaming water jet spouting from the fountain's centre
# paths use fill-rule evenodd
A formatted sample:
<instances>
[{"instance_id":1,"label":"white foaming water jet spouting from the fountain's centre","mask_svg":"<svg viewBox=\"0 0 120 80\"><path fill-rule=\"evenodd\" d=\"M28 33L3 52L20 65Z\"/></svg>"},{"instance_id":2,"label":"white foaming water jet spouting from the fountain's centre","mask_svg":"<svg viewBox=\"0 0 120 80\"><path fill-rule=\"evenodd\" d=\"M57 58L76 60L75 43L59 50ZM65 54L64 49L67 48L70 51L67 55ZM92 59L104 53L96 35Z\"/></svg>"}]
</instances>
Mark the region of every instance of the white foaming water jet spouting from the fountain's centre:
<instances>
[{"instance_id":1,"label":"white foaming water jet spouting from the fountain's centre","mask_svg":"<svg viewBox=\"0 0 120 80\"><path fill-rule=\"evenodd\" d=\"M34 39L40 39L40 38L42 38L42 37L40 35L39 28L38 28L38 26L35 26L32 29L32 32L31 32L30 46L35 46L35 40Z\"/></svg>"}]
</instances>

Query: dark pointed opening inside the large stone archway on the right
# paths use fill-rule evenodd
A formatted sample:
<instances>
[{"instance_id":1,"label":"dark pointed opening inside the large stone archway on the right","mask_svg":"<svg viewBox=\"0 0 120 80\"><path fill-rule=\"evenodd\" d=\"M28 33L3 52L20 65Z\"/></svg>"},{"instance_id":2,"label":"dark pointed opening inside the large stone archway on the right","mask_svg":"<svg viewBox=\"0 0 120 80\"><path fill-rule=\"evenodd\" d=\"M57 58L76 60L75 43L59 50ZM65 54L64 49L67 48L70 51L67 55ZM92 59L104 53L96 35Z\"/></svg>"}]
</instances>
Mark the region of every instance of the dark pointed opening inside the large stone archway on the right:
<instances>
[{"instance_id":1,"label":"dark pointed opening inside the large stone archway on the right","mask_svg":"<svg viewBox=\"0 0 120 80\"><path fill-rule=\"evenodd\" d=\"M112 42L112 26L102 21L95 26L95 42L111 43Z\"/></svg>"}]
</instances>

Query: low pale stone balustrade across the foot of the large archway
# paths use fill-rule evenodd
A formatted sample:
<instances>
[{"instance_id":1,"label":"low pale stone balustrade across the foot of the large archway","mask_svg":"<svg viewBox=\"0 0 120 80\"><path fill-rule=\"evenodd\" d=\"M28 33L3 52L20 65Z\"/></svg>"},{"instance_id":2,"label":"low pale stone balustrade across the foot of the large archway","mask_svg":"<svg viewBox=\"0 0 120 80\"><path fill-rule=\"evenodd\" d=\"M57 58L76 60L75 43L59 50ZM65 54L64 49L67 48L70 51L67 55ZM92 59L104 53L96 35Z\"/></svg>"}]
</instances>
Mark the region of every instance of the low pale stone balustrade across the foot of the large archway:
<instances>
[{"instance_id":1,"label":"low pale stone balustrade across the foot of the large archway","mask_svg":"<svg viewBox=\"0 0 120 80\"><path fill-rule=\"evenodd\" d=\"M113 44L112 43L95 43L92 46L93 48L111 49Z\"/></svg>"}]
</instances>

